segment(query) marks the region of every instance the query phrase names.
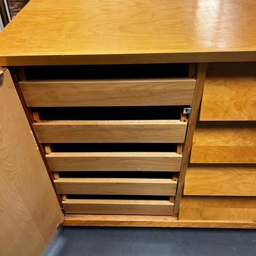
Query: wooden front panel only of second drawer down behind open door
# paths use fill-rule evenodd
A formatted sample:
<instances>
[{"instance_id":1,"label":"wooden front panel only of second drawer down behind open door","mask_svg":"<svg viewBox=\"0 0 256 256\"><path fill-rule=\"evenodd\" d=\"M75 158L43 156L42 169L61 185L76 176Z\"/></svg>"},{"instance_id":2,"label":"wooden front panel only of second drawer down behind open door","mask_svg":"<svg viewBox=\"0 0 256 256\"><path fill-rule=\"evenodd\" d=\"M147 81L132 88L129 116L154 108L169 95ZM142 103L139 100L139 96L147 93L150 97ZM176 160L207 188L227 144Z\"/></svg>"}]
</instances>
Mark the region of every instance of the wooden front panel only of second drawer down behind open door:
<instances>
[{"instance_id":1,"label":"wooden front panel only of second drawer down behind open door","mask_svg":"<svg viewBox=\"0 0 256 256\"><path fill-rule=\"evenodd\" d=\"M42 143L182 143L179 120L44 121L34 124Z\"/></svg>"}]
</instances>

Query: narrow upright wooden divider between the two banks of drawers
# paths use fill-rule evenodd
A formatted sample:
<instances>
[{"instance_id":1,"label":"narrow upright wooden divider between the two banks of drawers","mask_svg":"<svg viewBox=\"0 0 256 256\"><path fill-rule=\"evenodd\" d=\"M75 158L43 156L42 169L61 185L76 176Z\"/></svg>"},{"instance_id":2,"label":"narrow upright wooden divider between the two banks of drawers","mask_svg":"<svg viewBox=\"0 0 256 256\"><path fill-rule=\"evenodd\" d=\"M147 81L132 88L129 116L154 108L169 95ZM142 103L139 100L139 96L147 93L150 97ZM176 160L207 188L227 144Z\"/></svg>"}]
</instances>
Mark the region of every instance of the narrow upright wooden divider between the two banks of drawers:
<instances>
[{"instance_id":1,"label":"narrow upright wooden divider between the two banks of drawers","mask_svg":"<svg viewBox=\"0 0 256 256\"><path fill-rule=\"evenodd\" d=\"M175 196L175 206L173 211L173 216L175 217L178 216L180 199L183 195L184 180L185 180L186 171L189 163L189 156L191 152L191 146L192 146L194 131L196 127L196 121L198 117L198 109L200 108L200 102L201 102L202 93L204 90L206 70L207 70L207 63L198 64L197 71L196 71L195 94L194 94L193 104L191 108L191 114L189 115L189 118L188 118L188 131L186 133L186 142L183 146L183 157L182 157L182 163L181 163L180 173L179 173L179 184L178 184L177 193Z\"/></svg>"}]
</instances>

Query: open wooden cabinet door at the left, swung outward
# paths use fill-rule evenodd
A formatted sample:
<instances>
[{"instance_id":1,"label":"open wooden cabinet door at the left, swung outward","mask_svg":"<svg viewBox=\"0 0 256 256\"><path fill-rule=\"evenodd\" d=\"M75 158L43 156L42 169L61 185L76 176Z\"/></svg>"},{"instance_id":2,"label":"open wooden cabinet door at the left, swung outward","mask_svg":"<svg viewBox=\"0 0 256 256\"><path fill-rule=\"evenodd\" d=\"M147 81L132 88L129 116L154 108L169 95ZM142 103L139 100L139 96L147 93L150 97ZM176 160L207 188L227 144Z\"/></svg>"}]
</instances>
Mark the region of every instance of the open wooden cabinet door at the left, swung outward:
<instances>
[{"instance_id":1,"label":"open wooden cabinet door at the left, swung outward","mask_svg":"<svg viewBox=\"0 0 256 256\"><path fill-rule=\"evenodd\" d=\"M0 255L42 255L63 214L15 86L0 85Z\"/></svg>"}]
</instances>

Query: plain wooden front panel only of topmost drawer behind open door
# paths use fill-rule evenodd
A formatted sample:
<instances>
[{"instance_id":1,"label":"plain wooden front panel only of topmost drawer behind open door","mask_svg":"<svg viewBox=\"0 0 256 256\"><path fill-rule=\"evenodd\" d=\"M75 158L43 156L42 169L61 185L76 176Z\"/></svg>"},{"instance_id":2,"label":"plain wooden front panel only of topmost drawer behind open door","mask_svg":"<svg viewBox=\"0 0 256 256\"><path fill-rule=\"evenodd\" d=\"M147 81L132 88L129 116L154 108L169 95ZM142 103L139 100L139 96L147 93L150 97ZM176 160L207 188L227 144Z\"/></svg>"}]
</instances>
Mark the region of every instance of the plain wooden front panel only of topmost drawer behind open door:
<instances>
[{"instance_id":1,"label":"plain wooden front panel only of topmost drawer behind open door","mask_svg":"<svg viewBox=\"0 0 256 256\"><path fill-rule=\"evenodd\" d=\"M129 72L129 70L127 70ZM190 105L195 79L21 81L28 106Z\"/></svg>"}]
</instances>

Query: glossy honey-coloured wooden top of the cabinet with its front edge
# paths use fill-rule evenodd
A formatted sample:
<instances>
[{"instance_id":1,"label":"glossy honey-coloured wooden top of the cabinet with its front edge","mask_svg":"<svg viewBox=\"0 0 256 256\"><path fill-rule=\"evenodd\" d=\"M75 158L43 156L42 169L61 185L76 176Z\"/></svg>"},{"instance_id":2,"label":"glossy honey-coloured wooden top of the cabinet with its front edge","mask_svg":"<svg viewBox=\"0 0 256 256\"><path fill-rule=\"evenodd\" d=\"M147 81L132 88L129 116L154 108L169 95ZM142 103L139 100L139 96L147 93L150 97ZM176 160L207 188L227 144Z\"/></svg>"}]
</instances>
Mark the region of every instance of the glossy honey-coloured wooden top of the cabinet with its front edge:
<instances>
[{"instance_id":1,"label":"glossy honey-coloured wooden top of the cabinet with its front edge","mask_svg":"<svg viewBox=\"0 0 256 256\"><path fill-rule=\"evenodd\" d=\"M256 61L255 0L31 0L0 65Z\"/></svg>"}]
</instances>

